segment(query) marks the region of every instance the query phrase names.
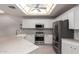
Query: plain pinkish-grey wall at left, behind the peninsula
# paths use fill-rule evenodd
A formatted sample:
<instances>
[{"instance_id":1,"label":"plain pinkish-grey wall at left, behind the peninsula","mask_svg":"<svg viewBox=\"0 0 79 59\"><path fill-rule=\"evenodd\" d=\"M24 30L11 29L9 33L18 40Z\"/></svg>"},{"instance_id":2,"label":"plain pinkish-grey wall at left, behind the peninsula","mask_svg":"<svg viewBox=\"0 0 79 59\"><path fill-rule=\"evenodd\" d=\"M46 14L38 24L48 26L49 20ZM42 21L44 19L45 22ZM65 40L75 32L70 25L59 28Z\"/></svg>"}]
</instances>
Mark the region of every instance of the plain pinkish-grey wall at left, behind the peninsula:
<instances>
[{"instance_id":1,"label":"plain pinkish-grey wall at left, behind the peninsula","mask_svg":"<svg viewBox=\"0 0 79 59\"><path fill-rule=\"evenodd\" d=\"M9 15L0 15L0 40L4 37L16 35L16 30L19 27L20 20L18 17Z\"/></svg>"}]
</instances>

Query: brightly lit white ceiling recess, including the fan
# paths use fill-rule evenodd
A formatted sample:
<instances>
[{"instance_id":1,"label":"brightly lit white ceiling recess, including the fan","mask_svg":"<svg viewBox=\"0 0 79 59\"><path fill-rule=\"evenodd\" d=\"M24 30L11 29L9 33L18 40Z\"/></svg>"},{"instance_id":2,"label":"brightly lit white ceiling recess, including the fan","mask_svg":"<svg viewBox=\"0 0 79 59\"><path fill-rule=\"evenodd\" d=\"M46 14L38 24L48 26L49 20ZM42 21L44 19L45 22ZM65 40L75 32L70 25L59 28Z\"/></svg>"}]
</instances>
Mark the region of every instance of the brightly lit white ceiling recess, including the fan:
<instances>
[{"instance_id":1,"label":"brightly lit white ceiling recess, including the fan","mask_svg":"<svg viewBox=\"0 0 79 59\"><path fill-rule=\"evenodd\" d=\"M18 4L26 15L50 15L55 4Z\"/></svg>"}]
</instances>

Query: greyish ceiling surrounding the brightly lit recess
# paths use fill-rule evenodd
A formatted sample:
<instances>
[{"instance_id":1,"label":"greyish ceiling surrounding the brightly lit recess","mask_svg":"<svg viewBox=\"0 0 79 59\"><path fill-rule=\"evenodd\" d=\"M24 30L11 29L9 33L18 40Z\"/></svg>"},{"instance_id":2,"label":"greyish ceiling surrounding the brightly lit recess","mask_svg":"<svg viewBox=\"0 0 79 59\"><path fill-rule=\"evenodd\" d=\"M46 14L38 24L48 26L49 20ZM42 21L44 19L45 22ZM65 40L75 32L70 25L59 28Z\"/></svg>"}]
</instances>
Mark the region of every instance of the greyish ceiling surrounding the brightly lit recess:
<instances>
[{"instance_id":1,"label":"greyish ceiling surrounding the brightly lit recess","mask_svg":"<svg viewBox=\"0 0 79 59\"><path fill-rule=\"evenodd\" d=\"M38 15L26 15L16 4L0 4L0 10L4 11L4 13L0 13L0 14L1 15L8 14L8 15L14 15L14 16L21 16L21 17L51 17L52 16L54 18L74 6L75 4L56 4L54 9L52 9L50 15L38 16Z\"/></svg>"}]
</instances>

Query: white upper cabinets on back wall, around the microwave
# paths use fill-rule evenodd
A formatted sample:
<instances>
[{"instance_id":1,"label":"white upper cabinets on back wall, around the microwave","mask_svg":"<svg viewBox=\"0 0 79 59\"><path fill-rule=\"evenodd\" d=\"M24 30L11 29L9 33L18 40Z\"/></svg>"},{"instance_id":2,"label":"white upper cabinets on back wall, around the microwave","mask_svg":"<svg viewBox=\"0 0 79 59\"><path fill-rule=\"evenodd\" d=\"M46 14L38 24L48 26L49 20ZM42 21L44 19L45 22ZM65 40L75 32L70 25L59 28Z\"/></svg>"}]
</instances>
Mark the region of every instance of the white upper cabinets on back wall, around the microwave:
<instances>
[{"instance_id":1,"label":"white upper cabinets on back wall, around the microwave","mask_svg":"<svg viewBox=\"0 0 79 59\"><path fill-rule=\"evenodd\" d=\"M35 28L35 24L44 24L45 28L52 28L53 19L24 19L23 28Z\"/></svg>"}]
</instances>

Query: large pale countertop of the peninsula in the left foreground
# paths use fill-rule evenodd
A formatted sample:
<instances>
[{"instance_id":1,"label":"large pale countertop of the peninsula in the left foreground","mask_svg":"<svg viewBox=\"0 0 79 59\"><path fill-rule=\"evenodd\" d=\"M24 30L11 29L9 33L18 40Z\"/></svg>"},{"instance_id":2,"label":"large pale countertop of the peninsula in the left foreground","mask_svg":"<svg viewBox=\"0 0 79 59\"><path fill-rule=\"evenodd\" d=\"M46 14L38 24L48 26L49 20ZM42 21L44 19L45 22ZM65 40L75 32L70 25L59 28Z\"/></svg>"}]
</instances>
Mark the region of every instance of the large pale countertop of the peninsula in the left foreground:
<instances>
[{"instance_id":1,"label":"large pale countertop of the peninsula in the left foreground","mask_svg":"<svg viewBox=\"0 0 79 59\"><path fill-rule=\"evenodd\" d=\"M17 39L16 36L8 37L0 42L0 54L27 54L39 48L25 39Z\"/></svg>"}]
</instances>

